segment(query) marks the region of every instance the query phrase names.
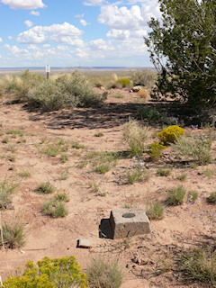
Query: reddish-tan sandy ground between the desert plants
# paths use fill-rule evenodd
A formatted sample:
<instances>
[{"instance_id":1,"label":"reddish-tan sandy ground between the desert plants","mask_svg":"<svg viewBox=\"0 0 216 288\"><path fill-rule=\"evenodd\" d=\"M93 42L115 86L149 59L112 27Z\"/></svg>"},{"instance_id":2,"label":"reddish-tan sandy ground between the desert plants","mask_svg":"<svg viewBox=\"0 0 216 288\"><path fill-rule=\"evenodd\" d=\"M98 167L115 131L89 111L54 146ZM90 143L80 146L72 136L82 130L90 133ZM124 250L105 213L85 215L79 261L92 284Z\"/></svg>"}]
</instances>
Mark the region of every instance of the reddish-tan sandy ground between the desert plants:
<instances>
[{"instance_id":1,"label":"reddish-tan sandy ground between the desert plants","mask_svg":"<svg viewBox=\"0 0 216 288\"><path fill-rule=\"evenodd\" d=\"M123 98L116 98L116 94L123 95ZM211 221L209 225L209 215L215 207L206 202L210 193L216 191L215 174L203 174L206 168L215 170L214 163L194 168L190 161L179 161L171 148L167 148L159 162L148 162L148 181L135 184L125 184L132 163L130 157L119 159L117 166L104 175L93 171L90 160L84 168L77 166L91 151L127 150L122 141L123 125L140 105L137 94L122 90L110 91L101 108L77 108L73 114L67 110L31 112L24 103L7 104L5 99L2 100L0 178L1 181L19 182L19 186L13 194L10 209L1 211L1 218L4 220L20 212L26 233L23 247L6 249L5 253L0 249L0 275L3 279L9 272L14 273L17 266L24 266L27 260L36 262L45 256L74 255L84 272L91 258L118 259L124 271L121 288L202 287L201 284L183 281L175 258L184 247L215 242L214 224ZM26 142L17 143L21 137L13 138L13 135L6 134L8 130L22 130ZM150 128L152 134L155 130ZM190 128L186 131L203 133L203 130ZM103 137L95 137L98 132L103 132ZM9 142L3 143L6 136ZM57 157L40 152L46 143L55 143L58 138L67 141L67 152ZM74 141L85 148L72 148ZM10 151L11 145L16 149L14 154ZM60 161L61 154L67 154L66 163ZM144 160L147 158L148 155L143 157ZM159 166L170 167L171 175L157 176ZM24 170L31 176L23 177L21 173ZM177 176L183 173L187 175L186 179L178 180ZM40 212L41 204L52 197L35 193L35 188L42 182L50 182L57 190L67 191L70 197L67 217L53 219ZM90 183L98 184L99 192L93 192ZM166 207L163 220L150 221L151 233L148 235L118 240L99 238L101 220L108 219L112 209L127 206L146 210L151 202L165 201L168 188L176 185L183 185L187 191L196 191L198 201L190 204L185 197L183 205ZM93 246L90 249L77 248L78 238L92 239Z\"/></svg>"}]
</instances>

